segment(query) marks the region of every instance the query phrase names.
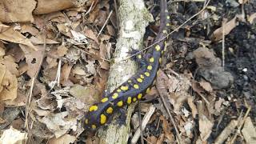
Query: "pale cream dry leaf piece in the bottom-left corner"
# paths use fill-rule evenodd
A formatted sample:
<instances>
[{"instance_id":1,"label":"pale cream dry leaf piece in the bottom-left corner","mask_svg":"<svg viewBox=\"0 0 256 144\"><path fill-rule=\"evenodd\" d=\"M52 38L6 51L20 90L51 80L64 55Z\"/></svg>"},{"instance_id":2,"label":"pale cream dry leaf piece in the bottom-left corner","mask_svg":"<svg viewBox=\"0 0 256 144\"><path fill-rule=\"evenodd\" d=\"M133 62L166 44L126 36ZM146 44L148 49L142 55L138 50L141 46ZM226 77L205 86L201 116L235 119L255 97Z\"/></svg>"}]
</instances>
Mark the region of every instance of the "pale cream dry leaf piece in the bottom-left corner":
<instances>
[{"instance_id":1,"label":"pale cream dry leaf piece in the bottom-left corner","mask_svg":"<svg viewBox=\"0 0 256 144\"><path fill-rule=\"evenodd\" d=\"M13 126L10 126L10 129L3 131L0 143L23 144L26 143L27 138L27 133L22 133L19 130L15 130Z\"/></svg>"}]
</instances>

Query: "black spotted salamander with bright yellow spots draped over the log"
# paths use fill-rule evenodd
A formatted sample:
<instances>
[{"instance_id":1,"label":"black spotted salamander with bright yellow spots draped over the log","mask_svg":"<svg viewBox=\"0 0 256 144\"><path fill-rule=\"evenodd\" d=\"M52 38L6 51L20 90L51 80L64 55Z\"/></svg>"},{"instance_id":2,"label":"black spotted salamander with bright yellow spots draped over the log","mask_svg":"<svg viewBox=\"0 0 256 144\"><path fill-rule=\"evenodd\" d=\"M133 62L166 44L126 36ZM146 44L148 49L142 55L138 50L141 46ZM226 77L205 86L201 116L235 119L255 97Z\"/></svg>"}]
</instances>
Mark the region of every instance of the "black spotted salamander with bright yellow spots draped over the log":
<instances>
[{"instance_id":1,"label":"black spotted salamander with bright yellow spots draped over the log","mask_svg":"<svg viewBox=\"0 0 256 144\"><path fill-rule=\"evenodd\" d=\"M118 86L112 93L106 94L101 102L90 106L89 112L85 117L86 130L97 130L98 127L104 125L110 119L111 114L114 113L118 107L130 105L142 98L143 94L150 91L150 86L154 82L157 75L158 67L162 61L161 57L164 52L166 41L160 41L166 36L167 30L170 26L170 16L167 10L166 0L160 2L160 28L157 37L154 40L154 48L147 50L143 56L143 64L126 82ZM142 55L137 56L142 59Z\"/></svg>"}]
</instances>

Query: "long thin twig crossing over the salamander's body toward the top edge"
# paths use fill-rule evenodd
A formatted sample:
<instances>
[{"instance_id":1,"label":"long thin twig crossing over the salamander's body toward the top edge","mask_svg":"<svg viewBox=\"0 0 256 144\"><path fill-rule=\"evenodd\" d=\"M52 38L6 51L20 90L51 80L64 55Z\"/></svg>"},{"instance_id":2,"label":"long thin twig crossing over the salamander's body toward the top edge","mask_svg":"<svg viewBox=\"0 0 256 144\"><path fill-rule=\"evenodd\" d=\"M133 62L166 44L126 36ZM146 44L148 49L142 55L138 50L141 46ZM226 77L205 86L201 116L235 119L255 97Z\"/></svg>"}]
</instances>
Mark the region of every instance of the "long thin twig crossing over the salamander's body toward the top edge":
<instances>
[{"instance_id":1,"label":"long thin twig crossing over the salamander's body toward the top edge","mask_svg":"<svg viewBox=\"0 0 256 144\"><path fill-rule=\"evenodd\" d=\"M132 58L134 57L135 55L137 54L140 54L142 53L143 51L149 49L150 47L154 46L155 44L157 44L158 42L161 42L162 40L168 38L170 36L170 34L173 34L175 31L178 31L180 28L182 28L182 26L184 26L187 22L190 22L191 19L193 19L194 17L198 16L198 14L201 14L203 10L206 9L206 7L209 5L210 3L210 0L208 2L206 2L206 5L202 8L202 10L198 11L197 14L194 14L192 17L190 17L189 19L187 19L185 22L182 23L182 25L178 26L176 29L174 29L173 31L171 31L169 34L167 34L165 37L163 38L160 38L157 42L154 42L153 44L151 44L150 46L147 46L146 48L142 49L142 50L139 50L137 53L135 54L132 54L130 55L129 57L126 57L126 58L123 58L123 59L120 59L118 62L121 62L121 61L125 61L129 58Z\"/></svg>"}]
</instances>

